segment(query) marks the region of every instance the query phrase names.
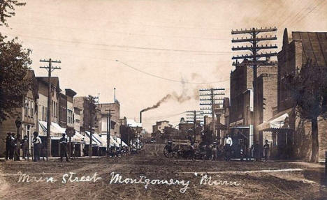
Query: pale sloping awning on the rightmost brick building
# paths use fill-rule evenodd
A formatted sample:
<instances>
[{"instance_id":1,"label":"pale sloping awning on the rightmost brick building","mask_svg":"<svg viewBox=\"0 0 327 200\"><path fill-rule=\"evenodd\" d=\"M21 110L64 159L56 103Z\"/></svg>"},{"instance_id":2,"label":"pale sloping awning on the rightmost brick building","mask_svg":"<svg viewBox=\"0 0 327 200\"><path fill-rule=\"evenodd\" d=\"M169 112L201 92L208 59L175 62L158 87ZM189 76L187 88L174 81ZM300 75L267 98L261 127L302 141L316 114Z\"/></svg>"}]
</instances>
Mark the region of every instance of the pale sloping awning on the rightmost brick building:
<instances>
[{"instance_id":1,"label":"pale sloping awning on the rightmost brick building","mask_svg":"<svg viewBox=\"0 0 327 200\"><path fill-rule=\"evenodd\" d=\"M266 123L258 125L259 131L289 130L289 116L293 108L279 112Z\"/></svg>"}]
</instances>

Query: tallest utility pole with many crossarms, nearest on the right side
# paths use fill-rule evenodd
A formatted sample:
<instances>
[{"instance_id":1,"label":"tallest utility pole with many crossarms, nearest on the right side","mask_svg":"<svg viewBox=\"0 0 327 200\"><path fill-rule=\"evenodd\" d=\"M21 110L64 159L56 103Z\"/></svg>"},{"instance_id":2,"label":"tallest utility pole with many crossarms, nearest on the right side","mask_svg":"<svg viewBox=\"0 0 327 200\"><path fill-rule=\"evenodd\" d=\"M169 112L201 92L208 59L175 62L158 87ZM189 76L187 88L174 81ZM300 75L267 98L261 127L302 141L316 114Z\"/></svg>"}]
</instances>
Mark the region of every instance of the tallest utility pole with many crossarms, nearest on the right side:
<instances>
[{"instance_id":1,"label":"tallest utility pole with many crossarms, nearest on the right side","mask_svg":"<svg viewBox=\"0 0 327 200\"><path fill-rule=\"evenodd\" d=\"M260 60L261 58L270 58L271 56L277 56L276 52L265 52L265 53L260 53L259 51L262 49L277 49L277 45L257 45L259 42L262 41L270 41L270 40L277 40L276 36L261 36L258 37L259 33L269 33L269 32L275 32L277 31L277 28L260 28L260 29L245 29L245 30L235 30L235 31L231 31L232 35L236 35L236 34L249 34L251 37L250 38L236 38L232 41L232 43L250 43L251 45L248 46L237 46L237 47L232 47L233 51L244 51L244 50L248 50L251 52L251 54L245 54L245 55L241 55L241 56L233 56L233 60L236 60L235 63L233 63L233 66L252 66L253 68L253 93L254 93L254 100L253 100L253 130L254 130L254 137L256 137L256 123L258 123L257 121L257 95L256 95L256 77L257 77L257 70L259 68L259 66L275 66L275 62L271 62L268 61L268 59L266 59L266 61L262 61ZM238 59L249 59L249 61L247 61L246 63L238 63ZM269 59L270 60L270 59ZM250 133L251 134L251 133ZM257 139L255 139L257 140Z\"/></svg>"}]
</instances>

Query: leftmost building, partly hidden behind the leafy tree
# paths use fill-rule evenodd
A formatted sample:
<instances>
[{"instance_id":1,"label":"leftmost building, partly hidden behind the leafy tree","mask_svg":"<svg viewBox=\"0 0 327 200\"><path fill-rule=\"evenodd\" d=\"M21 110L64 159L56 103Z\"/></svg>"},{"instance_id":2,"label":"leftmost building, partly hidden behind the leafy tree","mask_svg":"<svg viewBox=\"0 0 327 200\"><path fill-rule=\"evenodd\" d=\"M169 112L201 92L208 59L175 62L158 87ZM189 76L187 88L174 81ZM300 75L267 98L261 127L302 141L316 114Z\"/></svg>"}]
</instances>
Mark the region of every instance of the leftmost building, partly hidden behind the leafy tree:
<instances>
[{"instance_id":1,"label":"leftmost building, partly hidden behind the leafy tree","mask_svg":"<svg viewBox=\"0 0 327 200\"><path fill-rule=\"evenodd\" d=\"M34 75L34 70L29 70L26 78L31 79L31 86L29 90L24 93L24 96L21 97L23 106L15 108L15 114L6 118L6 120L0 124L1 156L4 156L6 151L6 132L17 133L17 127L15 124L17 118L20 118L20 121L22 122L19 129L21 137L24 137L24 135L29 137L29 149L31 149L31 138L33 136L33 132L38 130L38 83Z\"/></svg>"}]
</instances>

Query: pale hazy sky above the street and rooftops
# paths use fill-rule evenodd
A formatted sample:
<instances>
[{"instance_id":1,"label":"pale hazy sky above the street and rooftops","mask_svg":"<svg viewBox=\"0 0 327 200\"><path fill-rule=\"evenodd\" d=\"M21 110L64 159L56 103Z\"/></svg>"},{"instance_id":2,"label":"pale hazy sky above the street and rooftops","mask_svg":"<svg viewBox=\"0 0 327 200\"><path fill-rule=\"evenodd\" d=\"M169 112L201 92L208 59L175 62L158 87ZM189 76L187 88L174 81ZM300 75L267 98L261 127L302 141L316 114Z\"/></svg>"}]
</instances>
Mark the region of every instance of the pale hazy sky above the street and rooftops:
<instances>
[{"instance_id":1,"label":"pale hazy sky above the street and rooftops","mask_svg":"<svg viewBox=\"0 0 327 200\"><path fill-rule=\"evenodd\" d=\"M225 88L233 70L232 29L276 26L282 33L327 31L327 0L100 1L29 0L16 8L8 27L32 50L31 68L47 76L40 59L60 60L60 87L120 102L120 116L151 132L156 121L176 125L187 110L200 109L198 89Z\"/></svg>"}]
</instances>

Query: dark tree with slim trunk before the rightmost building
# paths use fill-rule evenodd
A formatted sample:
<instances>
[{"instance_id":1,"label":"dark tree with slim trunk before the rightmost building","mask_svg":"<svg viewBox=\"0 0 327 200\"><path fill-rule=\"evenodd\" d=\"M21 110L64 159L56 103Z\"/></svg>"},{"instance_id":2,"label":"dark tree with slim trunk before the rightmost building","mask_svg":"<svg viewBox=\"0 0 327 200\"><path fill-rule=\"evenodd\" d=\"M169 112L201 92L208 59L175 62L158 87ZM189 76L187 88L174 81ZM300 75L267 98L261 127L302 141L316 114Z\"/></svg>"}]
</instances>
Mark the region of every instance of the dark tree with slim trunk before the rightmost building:
<instances>
[{"instance_id":1,"label":"dark tree with slim trunk before the rightmost building","mask_svg":"<svg viewBox=\"0 0 327 200\"><path fill-rule=\"evenodd\" d=\"M318 117L327 117L327 70L308 60L300 71L291 77L297 113L311 121L312 154L310 162L318 162Z\"/></svg>"}]
</instances>

